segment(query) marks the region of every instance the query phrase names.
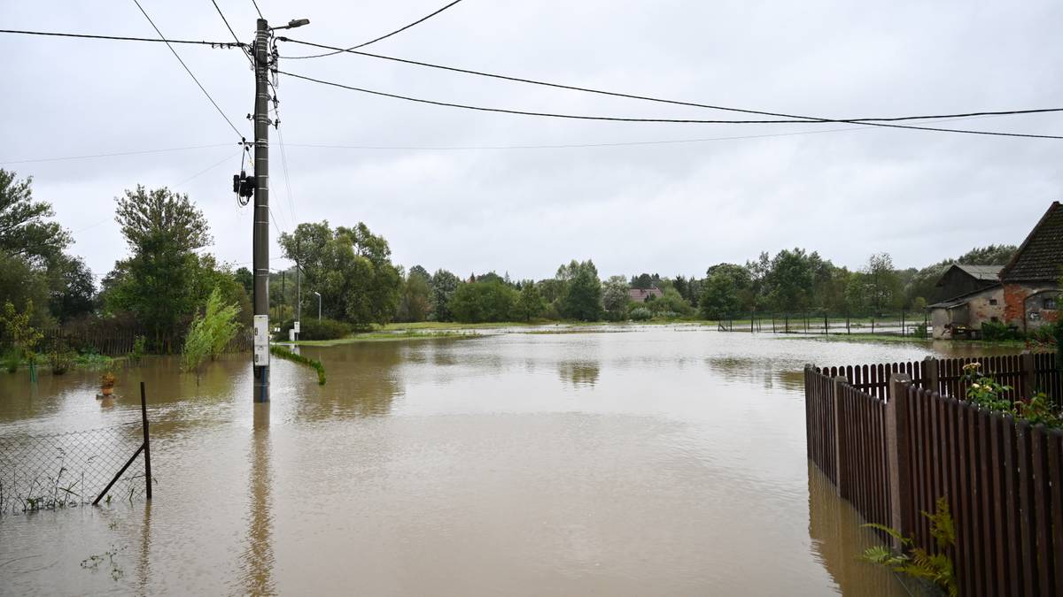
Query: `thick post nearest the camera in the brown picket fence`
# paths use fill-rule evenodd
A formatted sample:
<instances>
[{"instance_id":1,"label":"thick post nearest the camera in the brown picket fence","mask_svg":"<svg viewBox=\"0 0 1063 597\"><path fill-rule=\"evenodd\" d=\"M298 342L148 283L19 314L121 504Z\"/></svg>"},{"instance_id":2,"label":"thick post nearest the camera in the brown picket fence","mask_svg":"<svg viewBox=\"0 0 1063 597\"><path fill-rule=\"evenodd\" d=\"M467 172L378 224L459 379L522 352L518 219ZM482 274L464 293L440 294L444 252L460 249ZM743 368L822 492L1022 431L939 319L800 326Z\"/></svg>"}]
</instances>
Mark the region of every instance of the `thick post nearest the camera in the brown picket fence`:
<instances>
[{"instance_id":1,"label":"thick post nearest the camera in the brown picket fence","mask_svg":"<svg viewBox=\"0 0 1063 597\"><path fill-rule=\"evenodd\" d=\"M907 535L912 528L912 488L909 484L911 454L908 445L908 390L912 378L907 373L890 376L890 399L885 403L885 447L890 473L890 526ZM893 540L894 548L902 546Z\"/></svg>"}]
</instances>

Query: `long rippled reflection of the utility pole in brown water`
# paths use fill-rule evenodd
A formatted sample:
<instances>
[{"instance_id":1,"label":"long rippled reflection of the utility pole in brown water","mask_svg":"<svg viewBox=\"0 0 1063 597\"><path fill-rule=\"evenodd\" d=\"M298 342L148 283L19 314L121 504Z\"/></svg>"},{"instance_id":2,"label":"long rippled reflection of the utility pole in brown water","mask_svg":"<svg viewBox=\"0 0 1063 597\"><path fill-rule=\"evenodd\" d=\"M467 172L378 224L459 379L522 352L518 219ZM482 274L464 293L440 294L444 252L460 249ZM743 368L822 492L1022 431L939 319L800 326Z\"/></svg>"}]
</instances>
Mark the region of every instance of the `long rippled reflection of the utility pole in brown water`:
<instances>
[{"instance_id":1,"label":"long rippled reflection of the utility pole in brown water","mask_svg":"<svg viewBox=\"0 0 1063 597\"><path fill-rule=\"evenodd\" d=\"M248 521L244 548L240 553L240 585L244 595L275 595L273 579L273 504L270 465L270 404L254 405L253 439L250 447Z\"/></svg>"}]
</instances>

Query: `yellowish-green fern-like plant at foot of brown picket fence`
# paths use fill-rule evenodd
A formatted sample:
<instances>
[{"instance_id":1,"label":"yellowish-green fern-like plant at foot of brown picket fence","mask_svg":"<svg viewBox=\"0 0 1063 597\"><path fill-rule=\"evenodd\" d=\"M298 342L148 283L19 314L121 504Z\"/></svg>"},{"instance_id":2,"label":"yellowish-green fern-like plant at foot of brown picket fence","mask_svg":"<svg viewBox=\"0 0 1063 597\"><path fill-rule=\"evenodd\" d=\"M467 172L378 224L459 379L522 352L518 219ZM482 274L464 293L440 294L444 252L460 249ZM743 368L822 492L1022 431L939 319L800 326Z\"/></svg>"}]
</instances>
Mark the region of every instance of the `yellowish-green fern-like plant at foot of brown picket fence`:
<instances>
[{"instance_id":1,"label":"yellowish-green fern-like plant at foot of brown picket fence","mask_svg":"<svg viewBox=\"0 0 1063 597\"><path fill-rule=\"evenodd\" d=\"M948 509L948 500L939 497L934 504L934 513L923 512L930 521L930 534L938 544L938 552L930 553L922 547L914 546L914 540L905 536L892 527L868 524L864 527L878 529L896 539L902 549L897 551L885 545L876 545L864 550L861 559L872 564L885 566L894 572L914 578L930 581L945 590L949 597L957 597L960 587L956 581L952 559L945 551L956 544L956 524Z\"/></svg>"}]
</instances>

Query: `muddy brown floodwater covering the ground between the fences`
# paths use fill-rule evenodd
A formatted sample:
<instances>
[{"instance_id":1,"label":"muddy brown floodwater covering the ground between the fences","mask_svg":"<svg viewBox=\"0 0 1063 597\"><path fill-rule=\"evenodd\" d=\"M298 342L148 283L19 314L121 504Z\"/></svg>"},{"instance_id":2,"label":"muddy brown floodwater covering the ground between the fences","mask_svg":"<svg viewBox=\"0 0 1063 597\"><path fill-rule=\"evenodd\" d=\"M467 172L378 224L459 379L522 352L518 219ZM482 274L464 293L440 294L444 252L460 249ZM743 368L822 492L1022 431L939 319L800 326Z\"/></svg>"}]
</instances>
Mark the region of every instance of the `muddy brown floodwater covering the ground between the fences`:
<instances>
[{"instance_id":1,"label":"muddy brown floodwater covering the ground between the fences","mask_svg":"<svg viewBox=\"0 0 1063 597\"><path fill-rule=\"evenodd\" d=\"M303 348L327 385L274 360L268 405L243 357L119 371L107 405L0 375L0 436L135 421L146 381L157 479L0 517L0 593L906 594L806 458L800 370L947 346L611 331Z\"/></svg>"}]
</instances>

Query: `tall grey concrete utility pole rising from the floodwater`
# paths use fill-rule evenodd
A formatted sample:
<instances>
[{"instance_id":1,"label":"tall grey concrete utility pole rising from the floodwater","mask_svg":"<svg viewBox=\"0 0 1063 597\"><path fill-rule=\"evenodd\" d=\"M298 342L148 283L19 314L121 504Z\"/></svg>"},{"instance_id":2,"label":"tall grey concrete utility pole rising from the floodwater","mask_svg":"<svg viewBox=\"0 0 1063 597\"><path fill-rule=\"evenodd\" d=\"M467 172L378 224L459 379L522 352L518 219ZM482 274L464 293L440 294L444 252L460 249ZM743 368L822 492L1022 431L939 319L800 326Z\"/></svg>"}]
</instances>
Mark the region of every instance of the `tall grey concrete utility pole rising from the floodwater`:
<instances>
[{"instance_id":1,"label":"tall grey concrete utility pole rising from the floodwater","mask_svg":"<svg viewBox=\"0 0 1063 597\"><path fill-rule=\"evenodd\" d=\"M269 402L269 27L258 19L255 63L254 402Z\"/></svg>"}]
</instances>

